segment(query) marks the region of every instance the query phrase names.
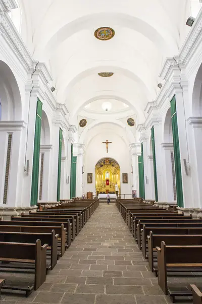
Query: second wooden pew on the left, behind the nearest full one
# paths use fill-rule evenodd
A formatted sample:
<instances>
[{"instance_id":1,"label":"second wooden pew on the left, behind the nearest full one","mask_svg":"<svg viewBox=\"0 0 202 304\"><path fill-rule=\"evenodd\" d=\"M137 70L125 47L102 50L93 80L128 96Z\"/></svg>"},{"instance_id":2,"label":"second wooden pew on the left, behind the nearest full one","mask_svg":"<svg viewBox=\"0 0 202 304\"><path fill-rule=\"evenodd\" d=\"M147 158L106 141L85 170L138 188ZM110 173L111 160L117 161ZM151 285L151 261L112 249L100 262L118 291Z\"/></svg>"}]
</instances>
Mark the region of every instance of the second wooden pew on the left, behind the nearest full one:
<instances>
[{"instance_id":1,"label":"second wooden pew on the left, behind the nearest full one","mask_svg":"<svg viewBox=\"0 0 202 304\"><path fill-rule=\"evenodd\" d=\"M46 271L54 269L58 261L58 237L59 235L52 230L51 233L22 233L22 232L0 232L0 242L10 243L36 243L37 240L41 241L41 245L48 244L51 250L51 265L46 266ZM47 260L47 259L46 259ZM24 268L24 266L23 266Z\"/></svg>"}]
</instances>

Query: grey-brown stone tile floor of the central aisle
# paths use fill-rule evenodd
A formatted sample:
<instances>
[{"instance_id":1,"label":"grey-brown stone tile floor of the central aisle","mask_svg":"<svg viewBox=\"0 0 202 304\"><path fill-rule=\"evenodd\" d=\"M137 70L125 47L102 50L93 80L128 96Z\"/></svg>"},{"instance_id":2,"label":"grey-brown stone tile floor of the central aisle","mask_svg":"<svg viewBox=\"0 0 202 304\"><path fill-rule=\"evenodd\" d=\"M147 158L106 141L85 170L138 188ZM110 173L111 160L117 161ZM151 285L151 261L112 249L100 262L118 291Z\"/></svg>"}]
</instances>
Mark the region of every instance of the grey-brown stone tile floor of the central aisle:
<instances>
[{"instance_id":1,"label":"grey-brown stone tile floor of the central aisle","mask_svg":"<svg viewBox=\"0 0 202 304\"><path fill-rule=\"evenodd\" d=\"M100 204L45 283L2 303L167 304L115 204ZM186 302L186 301L185 301Z\"/></svg>"}]
</instances>

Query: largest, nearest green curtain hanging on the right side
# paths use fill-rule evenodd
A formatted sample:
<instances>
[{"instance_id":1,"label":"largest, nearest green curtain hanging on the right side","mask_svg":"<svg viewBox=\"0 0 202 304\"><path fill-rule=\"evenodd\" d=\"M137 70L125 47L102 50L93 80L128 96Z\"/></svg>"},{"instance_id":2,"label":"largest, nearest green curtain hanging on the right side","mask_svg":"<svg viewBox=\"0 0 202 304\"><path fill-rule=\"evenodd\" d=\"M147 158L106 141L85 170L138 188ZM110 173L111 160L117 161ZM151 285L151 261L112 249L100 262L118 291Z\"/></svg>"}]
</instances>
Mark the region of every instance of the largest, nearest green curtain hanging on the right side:
<instances>
[{"instance_id":1,"label":"largest, nearest green curtain hanging on the right side","mask_svg":"<svg viewBox=\"0 0 202 304\"><path fill-rule=\"evenodd\" d=\"M170 101L171 104L171 120L173 130L173 148L174 148L174 159L175 159L175 176L176 176L176 192L177 192L177 204L179 207L183 207L183 191L182 191L182 172L180 163L180 146L179 146L179 135L177 127L177 111L176 111L176 98L175 95Z\"/></svg>"}]
</instances>

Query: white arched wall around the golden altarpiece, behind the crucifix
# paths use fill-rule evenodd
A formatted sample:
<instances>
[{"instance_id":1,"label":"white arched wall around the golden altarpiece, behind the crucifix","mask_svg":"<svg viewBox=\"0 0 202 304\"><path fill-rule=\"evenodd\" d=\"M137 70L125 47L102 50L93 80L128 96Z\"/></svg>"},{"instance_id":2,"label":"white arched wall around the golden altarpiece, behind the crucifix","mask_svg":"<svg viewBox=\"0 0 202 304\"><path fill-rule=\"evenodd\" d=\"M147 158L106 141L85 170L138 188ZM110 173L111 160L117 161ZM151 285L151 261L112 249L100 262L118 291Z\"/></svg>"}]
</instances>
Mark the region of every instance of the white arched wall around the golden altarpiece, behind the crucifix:
<instances>
[{"instance_id":1,"label":"white arched wall around the golden altarpiece, behind the crucifix","mask_svg":"<svg viewBox=\"0 0 202 304\"><path fill-rule=\"evenodd\" d=\"M109 144L108 153L106 151L106 144L103 141L112 141ZM93 192L95 194L95 165L102 158L115 159L121 169L121 194L132 194L131 181L131 156L129 147L119 135L112 131L105 130L102 134L97 134L89 142L85 150L84 158L84 174L83 174L83 190L86 192ZM93 174L93 183L87 183L87 173ZM128 183L122 182L122 173L128 173Z\"/></svg>"}]
</instances>

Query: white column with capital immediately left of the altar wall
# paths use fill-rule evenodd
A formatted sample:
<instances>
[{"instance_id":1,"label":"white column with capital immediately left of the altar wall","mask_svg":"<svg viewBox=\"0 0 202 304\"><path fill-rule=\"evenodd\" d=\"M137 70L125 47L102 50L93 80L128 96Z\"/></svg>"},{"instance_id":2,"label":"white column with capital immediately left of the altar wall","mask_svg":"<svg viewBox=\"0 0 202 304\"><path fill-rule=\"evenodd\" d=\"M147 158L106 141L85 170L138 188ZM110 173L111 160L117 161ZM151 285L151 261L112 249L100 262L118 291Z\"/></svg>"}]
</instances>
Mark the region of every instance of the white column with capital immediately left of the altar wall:
<instances>
[{"instance_id":1,"label":"white column with capital immediately left of the altar wall","mask_svg":"<svg viewBox=\"0 0 202 304\"><path fill-rule=\"evenodd\" d=\"M76 197L82 197L83 194L83 155L84 144L74 143L73 155L77 157L76 161Z\"/></svg>"}]
</instances>

